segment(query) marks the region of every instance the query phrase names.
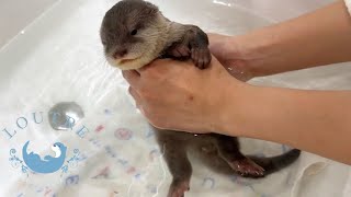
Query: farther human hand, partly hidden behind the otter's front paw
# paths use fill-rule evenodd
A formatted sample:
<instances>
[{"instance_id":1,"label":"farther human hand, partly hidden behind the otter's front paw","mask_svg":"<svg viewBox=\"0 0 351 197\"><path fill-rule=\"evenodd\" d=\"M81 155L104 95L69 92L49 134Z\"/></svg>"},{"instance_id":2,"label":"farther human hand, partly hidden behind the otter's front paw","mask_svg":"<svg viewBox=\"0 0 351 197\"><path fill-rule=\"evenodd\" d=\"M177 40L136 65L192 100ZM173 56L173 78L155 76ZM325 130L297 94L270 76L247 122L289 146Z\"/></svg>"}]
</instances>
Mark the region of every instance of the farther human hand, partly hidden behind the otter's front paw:
<instances>
[{"instance_id":1,"label":"farther human hand, partly hidden behind the otter's front paw","mask_svg":"<svg viewBox=\"0 0 351 197\"><path fill-rule=\"evenodd\" d=\"M210 50L226 68L226 70L240 81L248 81L254 76L249 67L247 49L240 46L235 37L220 34L207 34Z\"/></svg>"}]
</instances>

